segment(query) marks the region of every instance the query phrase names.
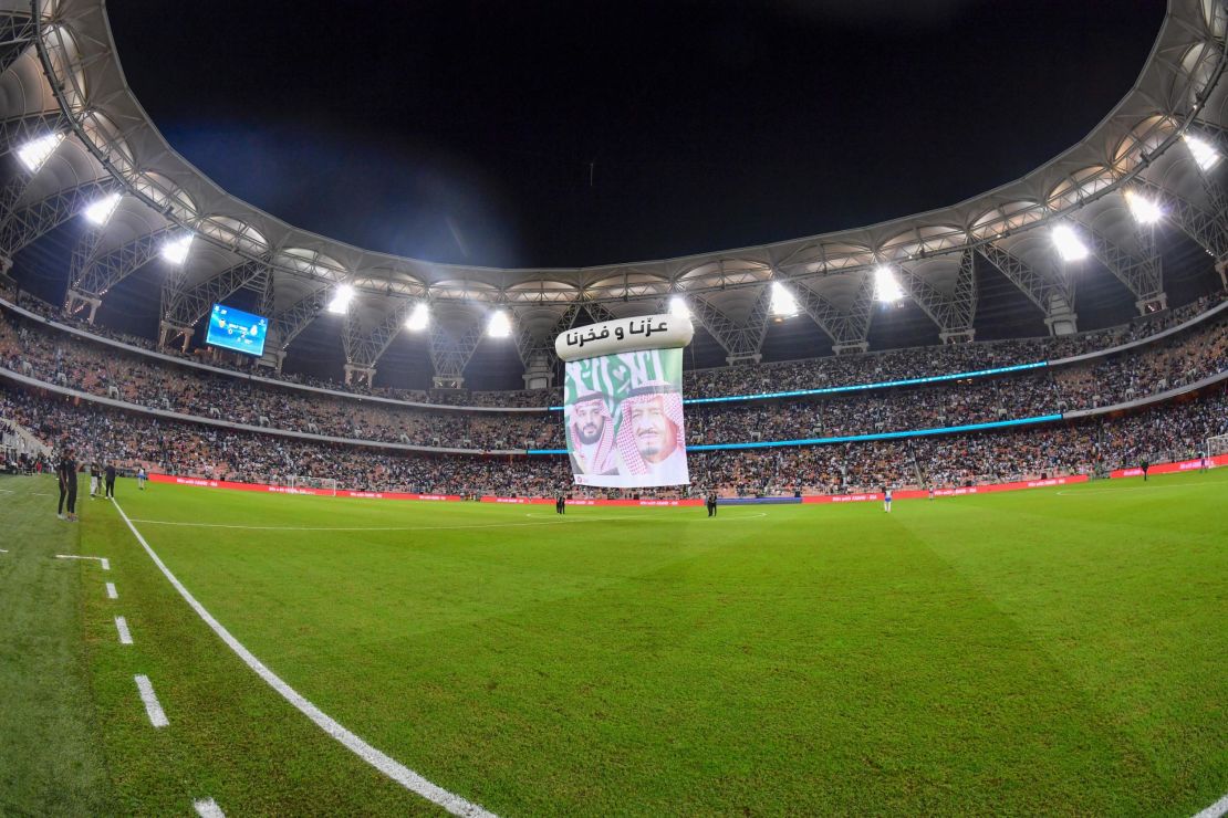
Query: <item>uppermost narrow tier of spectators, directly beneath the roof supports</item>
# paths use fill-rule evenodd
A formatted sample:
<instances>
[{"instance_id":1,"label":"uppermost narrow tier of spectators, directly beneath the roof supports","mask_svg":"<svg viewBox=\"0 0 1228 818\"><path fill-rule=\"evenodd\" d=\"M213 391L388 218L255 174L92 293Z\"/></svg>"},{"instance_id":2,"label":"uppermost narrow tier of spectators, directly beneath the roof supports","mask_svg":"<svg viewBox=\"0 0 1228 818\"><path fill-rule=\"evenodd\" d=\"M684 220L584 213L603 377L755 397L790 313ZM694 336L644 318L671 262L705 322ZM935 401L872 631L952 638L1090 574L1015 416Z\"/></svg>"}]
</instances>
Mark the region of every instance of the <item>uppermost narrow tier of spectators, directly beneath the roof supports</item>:
<instances>
[{"instance_id":1,"label":"uppermost narrow tier of spectators, directly beneath the roof supports","mask_svg":"<svg viewBox=\"0 0 1228 818\"><path fill-rule=\"evenodd\" d=\"M0 292L0 296L10 300L20 300L22 308L48 320L68 324L80 330L141 348L154 348L154 343L147 338L118 334L101 325L88 324L79 315L53 308L28 294ZM754 395L796 389L946 375L1033 363L1036 361L1056 361L1108 350L1163 332L1218 305L1226 297L1228 297L1228 293L1221 292L1181 307L1135 318L1125 325L1056 338L1020 338L937 347L914 347L781 363L693 369L684 374L683 390L688 397ZM177 354L185 359L198 359L196 356L190 353L177 353L173 350L163 352ZM344 384L302 374L279 373L271 368L259 367L254 361L241 359L243 361L243 365L232 364L225 359L209 361L208 363L212 367L233 369L243 374L257 374L262 378L282 380L287 384L442 406L511 408L558 406L562 402L561 390L559 389L503 391L395 389L378 384L375 386L368 384ZM378 374L376 378L378 381Z\"/></svg>"}]
</instances>

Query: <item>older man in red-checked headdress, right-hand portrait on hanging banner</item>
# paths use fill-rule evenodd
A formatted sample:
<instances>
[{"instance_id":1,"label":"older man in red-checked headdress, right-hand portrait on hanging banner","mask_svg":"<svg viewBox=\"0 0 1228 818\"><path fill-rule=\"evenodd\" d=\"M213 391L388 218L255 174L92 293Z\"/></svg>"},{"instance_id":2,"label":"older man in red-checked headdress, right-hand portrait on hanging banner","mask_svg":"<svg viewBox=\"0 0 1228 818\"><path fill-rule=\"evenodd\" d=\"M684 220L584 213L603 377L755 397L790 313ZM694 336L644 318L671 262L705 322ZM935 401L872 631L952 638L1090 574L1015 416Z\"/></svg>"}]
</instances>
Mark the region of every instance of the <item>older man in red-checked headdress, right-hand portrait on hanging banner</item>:
<instances>
[{"instance_id":1,"label":"older man in red-checked headdress, right-hand portrait on hanging banner","mask_svg":"<svg viewBox=\"0 0 1228 818\"><path fill-rule=\"evenodd\" d=\"M632 389L619 407L618 454L624 475L645 476L651 486L690 482L683 396L655 380Z\"/></svg>"}]
</instances>

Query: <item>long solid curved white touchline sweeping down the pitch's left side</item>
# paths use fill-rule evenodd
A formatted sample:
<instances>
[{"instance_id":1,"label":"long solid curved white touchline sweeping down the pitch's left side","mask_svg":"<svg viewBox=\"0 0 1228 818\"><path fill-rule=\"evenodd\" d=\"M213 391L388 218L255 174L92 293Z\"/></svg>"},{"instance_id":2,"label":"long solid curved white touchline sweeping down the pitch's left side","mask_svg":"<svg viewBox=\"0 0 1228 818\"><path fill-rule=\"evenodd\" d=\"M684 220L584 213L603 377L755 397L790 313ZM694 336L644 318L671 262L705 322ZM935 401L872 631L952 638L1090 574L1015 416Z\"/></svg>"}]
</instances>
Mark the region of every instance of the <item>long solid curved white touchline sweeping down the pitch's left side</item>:
<instances>
[{"instance_id":1,"label":"long solid curved white touchline sweeping down the pitch's left side","mask_svg":"<svg viewBox=\"0 0 1228 818\"><path fill-rule=\"evenodd\" d=\"M205 624L208 624L212 629L212 632L216 633L223 643L226 643L226 646L233 650L235 654L237 654L238 657L242 659L248 667L255 671L257 676L263 678L269 684L269 687L276 690L281 695L281 698L292 704L300 713L302 713L305 716L316 722L316 726L318 726L321 730L323 730L329 736L335 738L338 742L345 746L350 752L361 758L363 762L366 762L371 766L376 768L377 770L391 778L397 784L402 785L406 790L410 790L411 792L416 792L427 801L431 801L432 803L443 807L452 814L465 816L468 818L474 818L478 816L481 816L484 818L485 817L494 818L494 813L488 812L486 809L481 808L475 803L465 801L458 795L448 792L441 786L431 784L425 778L422 778L414 770L409 769L400 762L395 760L391 755L387 755L386 753L376 749L375 747L365 742L362 738L360 738L357 735L355 735L350 730L346 730L339 721L336 721L335 719L325 714L323 710L317 708L314 704L312 704L309 700L307 700L307 698L305 698L301 693L298 693L292 687L286 684L280 676L269 670L264 665L264 662L262 662L259 659L255 657L254 654L252 654L252 651L244 648L243 644L222 625L222 623L217 622L217 619L215 619L214 616L205 610L205 606L200 605L200 602L198 602L196 598L192 596L188 589L183 586L183 583L176 579L174 574L171 573L171 569L166 567L166 563L163 563L162 559L156 553L154 553L154 549L150 548L150 543L145 541L145 537L141 536L141 532L136 530L136 526L133 525L133 521L128 518L126 514L124 514L124 509L119 505L119 503L115 503L115 510L119 511L119 516L122 516L124 519L124 522L128 524L128 530L133 532L134 537L136 537L136 542L141 543L141 547L145 548L145 553L150 556L150 559L154 560L154 564L157 565L158 570L162 571L162 575L166 576L166 579L171 583L174 590L179 592L179 596L184 598L184 601L192 607L192 610L195 611L196 614L205 621ZM144 677L138 677L138 684L140 684L139 681L140 678ZM147 683L149 679L146 679L146 684Z\"/></svg>"}]
</instances>

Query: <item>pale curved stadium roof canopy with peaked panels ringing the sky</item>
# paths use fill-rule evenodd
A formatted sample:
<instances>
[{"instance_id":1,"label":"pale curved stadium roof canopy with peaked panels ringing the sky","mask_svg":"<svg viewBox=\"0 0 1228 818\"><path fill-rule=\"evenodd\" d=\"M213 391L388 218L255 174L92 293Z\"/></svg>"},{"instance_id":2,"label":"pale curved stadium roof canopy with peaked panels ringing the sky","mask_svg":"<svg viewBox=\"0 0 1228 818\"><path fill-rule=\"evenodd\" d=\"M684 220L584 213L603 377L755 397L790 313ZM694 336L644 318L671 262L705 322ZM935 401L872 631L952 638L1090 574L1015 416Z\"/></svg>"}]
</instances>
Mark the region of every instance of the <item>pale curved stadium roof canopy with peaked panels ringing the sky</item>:
<instances>
[{"instance_id":1,"label":"pale curved stadium roof canopy with peaked panels ringing the sky","mask_svg":"<svg viewBox=\"0 0 1228 818\"><path fill-rule=\"evenodd\" d=\"M459 377L492 309L510 310L528 365L548 354L554 335L582 312L598 319L656 312L682 294L729 359L748 359L759 354L766 334L772 283L793 293L837 351L865 348L874 271L884 266L942 337L970 337L975 273L985 264L1009 278L1055 330L1068 331L1078 302L1074 276L1065 272L1051 240L1059 223L1129 288L1140 310L1164 300L1157 228L1140 227L1127 193L1160 208L1158 229L1180 231L1217 262L1228 260L1218 179L1226 163L1207 163L1208 152L1228 150L1219 82L1226 12L1214 0L1172 0L1133 88L1100 124L1022 179L973 199L758 247L518 270L373 253L262 212L214 184L150 121L125 81L102 0L6 0L0 13L7 28L0 40L4 152L16 155L48 134L68 135L44 146L52 150L36 169L12 163L0 253L11 259L88 206L122 194L72 254L74 302L104 298L167 243L192 234L184 262L172 267L161 292L171 331L193 326L215 300L249 289L273 318L274 348L284 350L339 288L352 287L343 331L350 363L375 365L416 304L427 300L436 374Z\"/></svg>"}]
</instances>

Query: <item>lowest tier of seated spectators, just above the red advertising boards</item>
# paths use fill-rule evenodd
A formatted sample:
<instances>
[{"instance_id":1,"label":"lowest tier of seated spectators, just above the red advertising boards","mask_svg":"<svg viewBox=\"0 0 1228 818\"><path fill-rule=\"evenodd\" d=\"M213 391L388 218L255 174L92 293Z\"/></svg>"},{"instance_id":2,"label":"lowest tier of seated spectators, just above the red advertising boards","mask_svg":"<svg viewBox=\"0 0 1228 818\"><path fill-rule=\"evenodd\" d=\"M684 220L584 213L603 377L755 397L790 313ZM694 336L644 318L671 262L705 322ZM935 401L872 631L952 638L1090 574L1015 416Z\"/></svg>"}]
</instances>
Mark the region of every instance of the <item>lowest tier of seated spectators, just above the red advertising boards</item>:
<instances>
[{"instance_id":1,"label":"lowest tier of seated spectators, just above the red advertising boards","mask_svg":"<svg viewBox=\"0 0 1228 818\"><path fill-rule=\"evenodd\" d=\"M334 480L339 488L438 494L592 497L626 492L571 486L566 457L424 455L235 432L99 407L0 385L0 417L48 445L71 445L81 461L144 466L169 475L286 484L291 477ZM883 486L954 487L1102 472L1190 457L1228 433L1228 394L1174 401L1133 415L1092 417L1024 429L815 446L690 454L690 494L861 493ZM639 492L637 492L639 493ZM675 497L674 489L642 492Z\"/></svg>"}]
</instances>

